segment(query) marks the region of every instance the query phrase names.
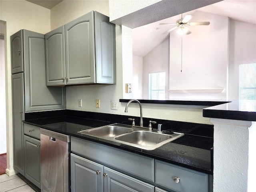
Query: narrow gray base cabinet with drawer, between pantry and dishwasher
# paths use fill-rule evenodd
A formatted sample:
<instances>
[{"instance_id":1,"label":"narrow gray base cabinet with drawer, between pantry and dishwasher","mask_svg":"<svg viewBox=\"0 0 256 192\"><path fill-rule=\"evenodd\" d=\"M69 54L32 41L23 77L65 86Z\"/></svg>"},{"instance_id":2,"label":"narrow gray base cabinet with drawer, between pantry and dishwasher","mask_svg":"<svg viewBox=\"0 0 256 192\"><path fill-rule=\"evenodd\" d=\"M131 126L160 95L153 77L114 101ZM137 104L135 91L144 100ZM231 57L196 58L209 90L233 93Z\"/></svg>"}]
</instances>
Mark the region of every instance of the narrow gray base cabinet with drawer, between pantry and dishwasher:
<instances>
[{"instance_id":1,"label":"narrow gray base cabinet with drawer, between pantry and dishwasher","mask_svg":"<svg viewBox=\"0 0 256 192\"><path fill-rule=\"evenodd\" d=\"M41 188L40 127L24 124L24 176Z\"/></svg>"}]
</instances>

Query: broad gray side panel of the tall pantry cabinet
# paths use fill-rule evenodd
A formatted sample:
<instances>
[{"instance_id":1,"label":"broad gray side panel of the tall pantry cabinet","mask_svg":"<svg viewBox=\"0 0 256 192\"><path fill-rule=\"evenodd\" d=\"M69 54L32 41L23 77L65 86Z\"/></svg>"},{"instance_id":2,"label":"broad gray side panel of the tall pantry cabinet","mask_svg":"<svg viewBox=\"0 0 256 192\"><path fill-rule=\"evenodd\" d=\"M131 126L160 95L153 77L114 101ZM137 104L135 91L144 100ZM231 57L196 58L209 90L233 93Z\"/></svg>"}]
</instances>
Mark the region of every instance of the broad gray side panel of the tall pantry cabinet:
<instances>
[{"instance_id":1,"label":"broad gray side panel of the tall pantry cabinet","mask_svg":"<svg viewBox=\"0 0 256 192\"><path fill-rule=\"evenodd\" d=\"M25 65L25 110L66 108L65 88L47 87L44 34L23 30Z\"/></svg>"}]
</instances>

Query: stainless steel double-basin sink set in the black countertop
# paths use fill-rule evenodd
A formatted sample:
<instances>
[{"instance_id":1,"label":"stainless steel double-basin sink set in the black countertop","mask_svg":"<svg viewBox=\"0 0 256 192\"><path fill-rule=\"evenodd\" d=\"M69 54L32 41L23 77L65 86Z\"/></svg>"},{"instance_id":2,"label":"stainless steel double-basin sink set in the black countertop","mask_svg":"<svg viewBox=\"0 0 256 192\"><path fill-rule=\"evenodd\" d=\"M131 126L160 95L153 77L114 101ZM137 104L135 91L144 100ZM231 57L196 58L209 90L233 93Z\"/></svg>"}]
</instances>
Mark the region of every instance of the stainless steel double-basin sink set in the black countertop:
<instances>
[{"instance_id":1,"label":"stainless steel double-basin sink set in the black countertop","mask_svg":"<svg viewBox=\"0 0 256 192\"><path fill-rule=\"evenodd\" d=\"M78 131L78 133L103 138L145 150L154 150L184 135L183 133L177 132L170 135L150 132L146 130L146 128L138 126L133 126L131 128L131 126L124 124L112 124Z\"/></svg>"}]
</instances>

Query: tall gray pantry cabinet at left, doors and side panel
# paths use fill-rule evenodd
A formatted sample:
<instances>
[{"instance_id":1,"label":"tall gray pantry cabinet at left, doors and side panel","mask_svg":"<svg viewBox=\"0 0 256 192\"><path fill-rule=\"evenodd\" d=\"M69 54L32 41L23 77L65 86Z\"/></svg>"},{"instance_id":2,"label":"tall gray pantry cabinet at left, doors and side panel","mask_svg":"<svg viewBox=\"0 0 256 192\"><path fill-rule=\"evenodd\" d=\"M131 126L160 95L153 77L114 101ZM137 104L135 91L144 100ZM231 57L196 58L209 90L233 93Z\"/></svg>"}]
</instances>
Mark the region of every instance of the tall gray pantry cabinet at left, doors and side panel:
<instances>
[{"instance_id":1,"label":"tall gray pantry cabinet at left, doors and side panel","mask_svg":"<svg viewBox=\"0 0 256 192\"><path fill-rule=\"evenodd\" d=\"M13 34L11 58L14 169L26 177L22 122L25 113L65 109L66 94L63 87L46 86L44 34L28 30Z\"/></svg>"}]
</instances>

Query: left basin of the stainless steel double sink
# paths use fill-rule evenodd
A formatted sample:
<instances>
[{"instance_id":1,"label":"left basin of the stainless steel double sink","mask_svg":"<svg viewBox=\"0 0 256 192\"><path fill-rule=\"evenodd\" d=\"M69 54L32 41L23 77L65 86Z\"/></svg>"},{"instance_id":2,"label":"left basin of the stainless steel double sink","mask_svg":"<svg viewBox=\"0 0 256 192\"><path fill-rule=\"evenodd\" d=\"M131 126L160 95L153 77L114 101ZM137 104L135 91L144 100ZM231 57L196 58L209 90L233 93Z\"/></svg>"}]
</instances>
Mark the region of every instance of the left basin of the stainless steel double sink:
<instances>
[{"instance_id":1,"label":"left basin of the stainless steel double sink","mask_svg":"<svg viewBox=\"0 0 256 192\"><path fill-rule=\"evenodd\" d=\"M92 135L96 137L111 138L121 134L129 133L132 131L134 131L134 129L132 128L127 128L127 127L117 126L117 125L110 125L110 126L104 126L104 127L79 131L79 133Z\"/></svg>"}]
</instances>

